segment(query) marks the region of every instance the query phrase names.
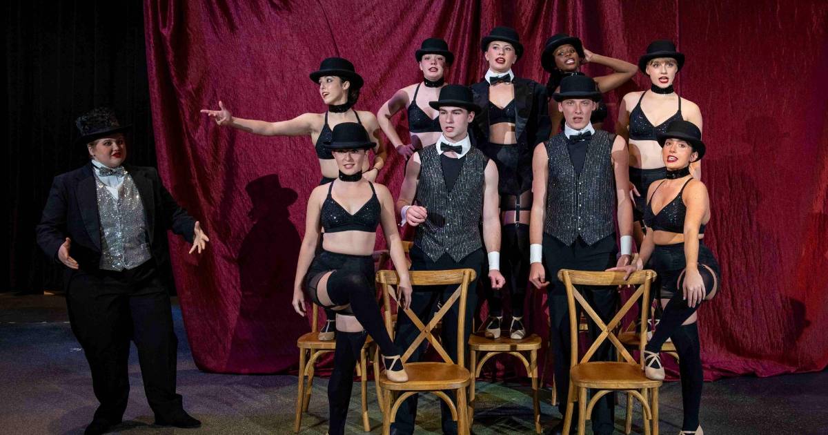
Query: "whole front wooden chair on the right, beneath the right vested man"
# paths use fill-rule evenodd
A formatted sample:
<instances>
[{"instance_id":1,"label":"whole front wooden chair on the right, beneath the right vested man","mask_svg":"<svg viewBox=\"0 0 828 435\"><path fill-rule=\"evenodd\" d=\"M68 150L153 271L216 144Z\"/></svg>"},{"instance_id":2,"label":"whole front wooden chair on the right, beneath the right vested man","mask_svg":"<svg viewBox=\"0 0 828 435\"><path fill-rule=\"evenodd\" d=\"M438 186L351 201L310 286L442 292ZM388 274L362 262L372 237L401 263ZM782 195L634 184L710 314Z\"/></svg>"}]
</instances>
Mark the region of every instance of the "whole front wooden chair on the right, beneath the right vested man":
<instances>
[{"instance_id":1,"label":"whole front wooden chair on the right, beneath the right vested man","mask_svg":"<svg viewBox=\"0 0 828 435\"><path fill-rule=\"evenodd\" d=\"M615 391L623 391L641 402L644 414L644 433L658 435L658 387L662 381L647 379L643 372L643 350L646 339L639 341L639 360L636 361L633 355L623 346L616 334L623 317L635 306L638 299L649 300L650 285L656 273L652 270L635 272L627 280L623 279L623 272L584 272L578 270L561 269L558 273L560 279L566 286L566 302L569 306L570 317L570 346L572 349L570 358L570 384L569 399L566 404L566 415L564 417L563 433L569 433L572 423L572 410L575 402L578 402L578 435L585 431L586 419L590 417L595 402L606 394ZM619 312L608 322L604 323L590 303L575 289L575 285L584 286L619 286L637 285L627 302L619 309ZM585 289L584 291L590 291ZM600 334L591 344L585 355L578 360L578 319L575 302L584 310L586 315L595 321L599 327ZM646 337L647 315L649 310L641 310L641 336ZM595 352L604 341L609 340L616 350L623 357L623 361L590 361ZM597 389L589 403L586 399L587 389ZM577 395L575 394L577 392Z\"/></svg>"}]
</instances>

